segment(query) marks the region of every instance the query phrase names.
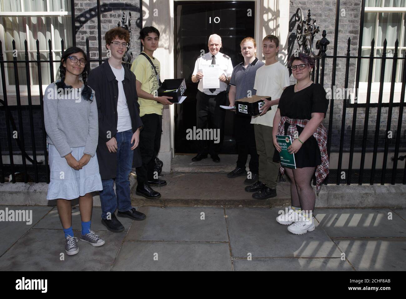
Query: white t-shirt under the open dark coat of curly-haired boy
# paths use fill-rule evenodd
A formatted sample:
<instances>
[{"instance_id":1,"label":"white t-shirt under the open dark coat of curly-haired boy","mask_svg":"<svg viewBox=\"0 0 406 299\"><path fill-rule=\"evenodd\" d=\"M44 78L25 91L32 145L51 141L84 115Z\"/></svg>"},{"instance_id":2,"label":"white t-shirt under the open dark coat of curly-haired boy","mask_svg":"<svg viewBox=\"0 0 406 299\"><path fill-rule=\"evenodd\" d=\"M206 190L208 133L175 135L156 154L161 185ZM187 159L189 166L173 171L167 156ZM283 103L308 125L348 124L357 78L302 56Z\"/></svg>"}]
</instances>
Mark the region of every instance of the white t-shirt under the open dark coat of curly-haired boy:
<instances>
[{"instance_id":1,"label":"white t-shirt under the open dark coat of curly-haired boy","mask_svg":"<svg viewBox=\"0 0 406 299\"><path fill-rule=\"evenodd\" d=\"M117 100L117 132L123 132L132 129L131 127L131 117L130 111L128 111L127 99L125 98L123 80L124 80L124 67L121 69L113 68L111 65L111 70L116 76L116 80L119 81L119 98Z\"/></svg>"}]
</instances>

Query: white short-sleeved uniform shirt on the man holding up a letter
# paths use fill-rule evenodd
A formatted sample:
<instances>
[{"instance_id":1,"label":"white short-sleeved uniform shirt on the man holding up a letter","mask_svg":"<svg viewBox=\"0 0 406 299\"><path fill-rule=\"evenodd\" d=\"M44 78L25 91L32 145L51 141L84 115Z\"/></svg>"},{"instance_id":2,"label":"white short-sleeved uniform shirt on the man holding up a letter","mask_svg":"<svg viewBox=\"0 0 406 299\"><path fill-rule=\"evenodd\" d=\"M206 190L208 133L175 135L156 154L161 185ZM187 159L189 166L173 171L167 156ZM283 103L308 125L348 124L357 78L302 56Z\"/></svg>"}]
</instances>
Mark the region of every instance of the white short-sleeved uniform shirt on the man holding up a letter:
<instances>
[{"instance_id":1,"label":"white short-sleeved uniform shirt on the man holding up a letter","mask_svg":"<svg viewBox=\"0 0 406 299\"><path fill-rule=\"evenodd\" d=\"M218 72L218 77L224 74L227 78L231 76L233 73L233 64L231 63L231 58L227 55L217 52L216 55L216 65L220 66L220 70ZM208 52L203 56L197 58L196 63L194 63L194 70L192 76L195 76L198 72L203 73L203 65L211 65L212 64L212 53ZM220 80L220 79L219 79ZM227 89L227 84L225 82L220 81L220 88L217 88L213 93L209 89L203 89L203 79L199 80L199 85L197 86L201 92L208 94L210 96L214 96L219 94L220 92L224 92Z\"/></svg>"}]
</instances>

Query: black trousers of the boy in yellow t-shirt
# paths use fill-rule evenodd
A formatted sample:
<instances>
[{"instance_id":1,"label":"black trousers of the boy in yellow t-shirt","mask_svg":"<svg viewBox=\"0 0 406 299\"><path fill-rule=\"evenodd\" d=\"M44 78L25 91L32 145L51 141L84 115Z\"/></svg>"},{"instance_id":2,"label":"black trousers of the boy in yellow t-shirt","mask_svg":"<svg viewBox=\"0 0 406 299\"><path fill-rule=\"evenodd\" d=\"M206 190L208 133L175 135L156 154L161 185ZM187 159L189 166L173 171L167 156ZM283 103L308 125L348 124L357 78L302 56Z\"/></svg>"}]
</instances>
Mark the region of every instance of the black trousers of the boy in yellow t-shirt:
<instances>
[{"instance_id":1,"label":"black trousers of the boy in yellow t-shirt","mask_svg":"<svg viewBox=\"0 0 406 299\"><path fill-rule=\"evenodd\" d=\"M162 134L162 115L156 113L141 116L144 128L140 132L140 148L142 165L136 168L137 182L148 183L153 180L155 157L159 153Z\"/></svg>"}]
</instances>

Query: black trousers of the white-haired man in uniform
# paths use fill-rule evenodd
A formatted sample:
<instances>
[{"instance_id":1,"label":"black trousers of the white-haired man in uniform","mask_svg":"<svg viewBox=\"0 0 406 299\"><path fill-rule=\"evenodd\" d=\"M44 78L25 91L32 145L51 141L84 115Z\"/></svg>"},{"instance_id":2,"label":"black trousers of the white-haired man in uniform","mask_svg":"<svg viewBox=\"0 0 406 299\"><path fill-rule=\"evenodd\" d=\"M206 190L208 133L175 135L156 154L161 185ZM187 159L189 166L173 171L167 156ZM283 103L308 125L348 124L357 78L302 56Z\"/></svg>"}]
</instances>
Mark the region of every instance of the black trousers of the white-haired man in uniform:
<instances>
[{"instance_id":1,"label":"black trousers of the white-haired man in uniform","mask_svg":"<svg viewBox=\"0 0 406 299\"><path fill-rule=\"evenodd\" d=\"M220 108L220 105L225 105L226 93L220 92L216 96L209 96L198 90L196 99L196 129L220 129L219 143L214 143L214 140L197 141L198 153L218 154L224 140L225 118L225 109Z\"/></svg>"}]
</instances>

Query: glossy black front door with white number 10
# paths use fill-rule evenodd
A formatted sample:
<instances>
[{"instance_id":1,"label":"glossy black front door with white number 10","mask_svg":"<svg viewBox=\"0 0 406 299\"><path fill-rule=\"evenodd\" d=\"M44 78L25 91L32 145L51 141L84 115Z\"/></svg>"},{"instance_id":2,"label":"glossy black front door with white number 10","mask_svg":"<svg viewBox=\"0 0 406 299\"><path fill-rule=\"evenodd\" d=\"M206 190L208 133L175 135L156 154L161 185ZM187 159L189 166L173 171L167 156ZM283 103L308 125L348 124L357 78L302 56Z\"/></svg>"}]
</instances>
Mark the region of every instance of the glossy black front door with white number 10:
<instances>
[{"instance_id":1,"label":"glossy black front door with white number 10","mask_svg":"<svg viewBox=\"0 0 406 299\"><path fill-rule=\"evenodd\" d=\"M184 103L175 105L175 153L197 152L196 142L186 140L186 130L196 126L198 83L191 78L196 59L209 51L209 36L216 33L222 39L220 52L231 57L233 66L241 63L240 42L254 37L254 8L254 1L175 1L175 78L185 78L188 96ZM234 113L226 111L223 154L237 153L233 123Z\"/></svg>"}]
</instances>

